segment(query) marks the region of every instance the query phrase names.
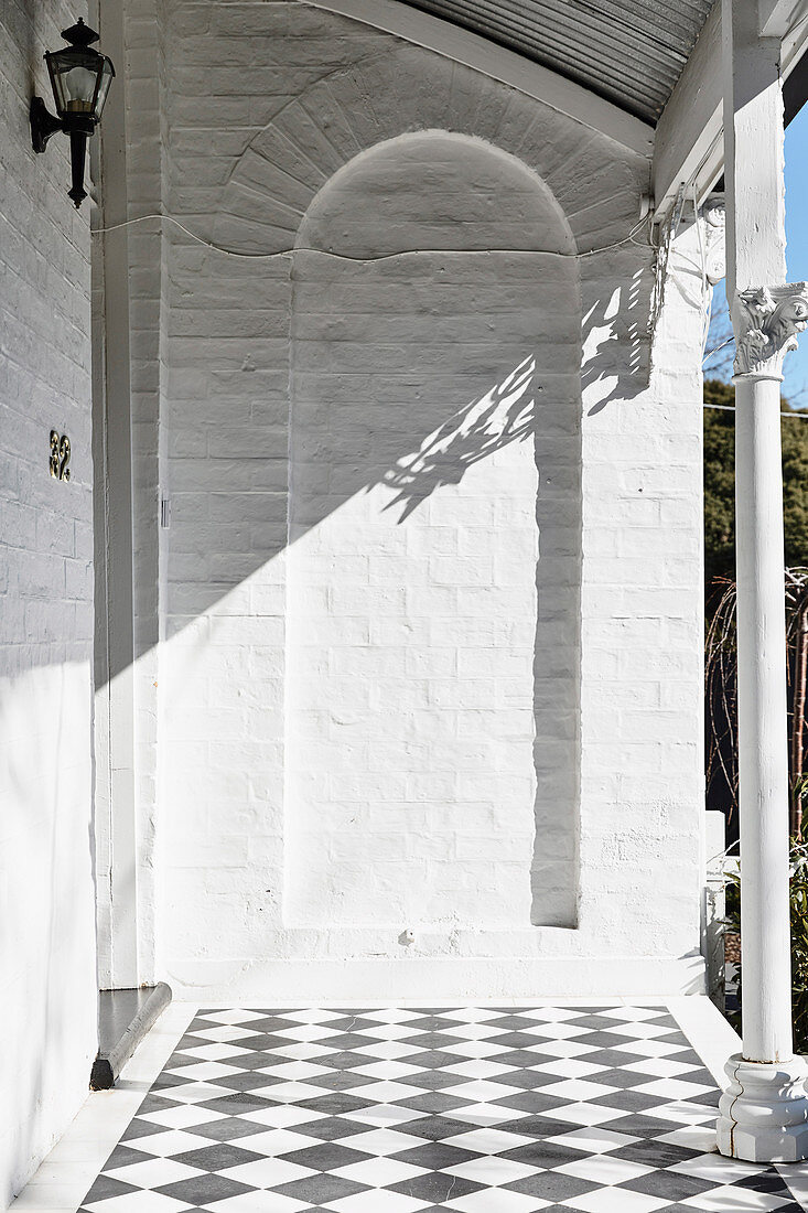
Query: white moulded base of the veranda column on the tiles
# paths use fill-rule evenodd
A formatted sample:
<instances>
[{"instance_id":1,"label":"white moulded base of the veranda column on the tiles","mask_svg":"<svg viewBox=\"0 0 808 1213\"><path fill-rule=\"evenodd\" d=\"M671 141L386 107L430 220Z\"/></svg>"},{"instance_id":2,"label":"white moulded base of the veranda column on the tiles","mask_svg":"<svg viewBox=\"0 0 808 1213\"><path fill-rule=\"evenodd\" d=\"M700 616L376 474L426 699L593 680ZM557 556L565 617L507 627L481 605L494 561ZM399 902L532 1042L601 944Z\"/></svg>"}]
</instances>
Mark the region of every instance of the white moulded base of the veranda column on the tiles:
<instances>
[{"instance_id":1,"label":"white moulded base of the veranda column on the tiles","mask_svg":"<svg viewBox=\"0 0 808 1213\"><path fill-rule=\"evenodd\" d=\"M718 1104L718 1150L747 1162L808 1157L808 1065L791 1058L772 1065L740 1054L726 1066L729 1086Z\"/></svg>"}]
</instances>

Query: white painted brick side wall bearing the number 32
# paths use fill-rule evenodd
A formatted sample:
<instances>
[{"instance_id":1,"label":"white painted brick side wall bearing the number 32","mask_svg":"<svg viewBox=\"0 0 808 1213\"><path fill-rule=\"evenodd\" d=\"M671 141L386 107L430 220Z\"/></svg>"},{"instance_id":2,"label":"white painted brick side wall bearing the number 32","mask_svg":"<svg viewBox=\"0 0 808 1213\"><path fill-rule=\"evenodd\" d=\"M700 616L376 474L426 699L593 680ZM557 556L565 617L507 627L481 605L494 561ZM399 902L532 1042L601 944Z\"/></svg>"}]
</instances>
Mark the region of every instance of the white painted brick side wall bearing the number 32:
<instances>
[{"instance_id":1,"label":"white painted brick side wall bearing the number 32","mask_svg":"<svg viewBox=\"0 0 808 1213\"><path fill-rule=\"evenodd\" d=\"M0 1206L87 1089L96 1047L91 871L92 467L87 210L68 143L30 147L42 52L79 4L0 8ZM51 428L70 482L49 475Z\"/></svg>"}]
</instances>

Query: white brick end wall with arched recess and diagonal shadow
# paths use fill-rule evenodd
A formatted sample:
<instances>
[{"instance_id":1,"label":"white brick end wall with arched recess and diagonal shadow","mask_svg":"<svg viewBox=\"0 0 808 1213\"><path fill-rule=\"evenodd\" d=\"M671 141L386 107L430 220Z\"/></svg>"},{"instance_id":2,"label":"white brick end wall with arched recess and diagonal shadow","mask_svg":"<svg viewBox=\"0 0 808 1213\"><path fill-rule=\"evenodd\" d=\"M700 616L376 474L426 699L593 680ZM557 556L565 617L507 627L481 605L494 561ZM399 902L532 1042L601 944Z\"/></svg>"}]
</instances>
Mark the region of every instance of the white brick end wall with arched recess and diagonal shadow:
<instances>
[{"instance_id":1,"label":"white brick end wall with arched recess and diagonal shadow","mask_svg":"<svg viewBox=\"0 0 808 1213\"><path fill-rule=\"evenodd\" d=\"M454 251L169 229L158 975L698 986L699 312L671 285L649 387L651 251L546 255L624 240L648 163L305 4L176 4L165 47L143 212ZM476 461L457 411L527 359Z\"/></svg>"}]
</instances>

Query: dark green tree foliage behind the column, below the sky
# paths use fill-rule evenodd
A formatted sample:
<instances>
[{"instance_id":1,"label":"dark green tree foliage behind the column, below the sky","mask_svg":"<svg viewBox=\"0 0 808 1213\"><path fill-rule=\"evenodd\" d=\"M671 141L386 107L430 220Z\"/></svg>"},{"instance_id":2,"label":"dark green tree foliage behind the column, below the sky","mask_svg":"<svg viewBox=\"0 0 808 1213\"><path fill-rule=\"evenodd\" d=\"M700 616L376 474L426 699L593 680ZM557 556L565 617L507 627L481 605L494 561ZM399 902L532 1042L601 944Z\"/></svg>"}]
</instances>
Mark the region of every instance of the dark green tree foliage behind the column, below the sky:
<instances>
[{"instance_id":1,"label":"dark green tree foliage behind the column, below the sky","mask_svg":"<svg viewBox=\"0 0 808 1213\"><path fill-rule=\"evenodd\" d=\"M706 380L706 405L733 406L735 389ZM783 411L791 412L783 400ZM785 563L808 564L808 420L784 417L783 494ZM713 577L735 576L735 414L704 410L704 531L707 593Z\"/></svg>"}]
</instances>

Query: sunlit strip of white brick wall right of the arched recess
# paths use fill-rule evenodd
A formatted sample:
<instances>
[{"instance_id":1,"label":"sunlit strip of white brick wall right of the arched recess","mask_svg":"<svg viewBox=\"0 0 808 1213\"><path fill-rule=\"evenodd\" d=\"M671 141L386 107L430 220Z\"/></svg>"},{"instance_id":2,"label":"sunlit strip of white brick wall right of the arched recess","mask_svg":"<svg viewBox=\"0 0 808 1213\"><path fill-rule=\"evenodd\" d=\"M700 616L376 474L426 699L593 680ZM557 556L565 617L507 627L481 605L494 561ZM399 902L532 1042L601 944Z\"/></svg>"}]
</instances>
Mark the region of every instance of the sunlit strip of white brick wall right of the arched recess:
<instances>
[{"instance_id":1,"label":"sunlit strip of white brick wall right of the arched recess","mask_svg":"<svg viewBox=\"0 0 808 1213\"><path fill-rule=\"evenodd\" d=\"M694 229L679 244L698 264ZM704 808L698 290L668 283L636 392L650 275L618 250L582 278L581 928L597 947L685 956Z\"/></svg>"}]
</instances>

